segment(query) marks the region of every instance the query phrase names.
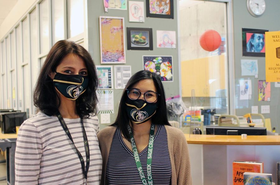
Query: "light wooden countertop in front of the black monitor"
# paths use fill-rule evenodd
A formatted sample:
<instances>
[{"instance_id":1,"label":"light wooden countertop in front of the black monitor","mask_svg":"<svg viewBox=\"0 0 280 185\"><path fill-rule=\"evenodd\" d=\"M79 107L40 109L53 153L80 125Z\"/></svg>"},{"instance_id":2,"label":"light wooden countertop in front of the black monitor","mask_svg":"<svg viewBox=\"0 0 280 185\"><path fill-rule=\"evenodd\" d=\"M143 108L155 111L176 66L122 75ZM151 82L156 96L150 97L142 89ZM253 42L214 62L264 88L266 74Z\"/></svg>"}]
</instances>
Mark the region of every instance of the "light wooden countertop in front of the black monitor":
<instances>
[{"instance_id":1,"label":"light wooden countertop in front of the black monitor","mask_svg":"<svg viewBox=\"0 0 280 185\"><path fill-rule=\"evenodd\" d=\"M202 145L280 145L280 136L241 136L189 135L185 134L188 144Z\"/></svg>"}]
</instances>

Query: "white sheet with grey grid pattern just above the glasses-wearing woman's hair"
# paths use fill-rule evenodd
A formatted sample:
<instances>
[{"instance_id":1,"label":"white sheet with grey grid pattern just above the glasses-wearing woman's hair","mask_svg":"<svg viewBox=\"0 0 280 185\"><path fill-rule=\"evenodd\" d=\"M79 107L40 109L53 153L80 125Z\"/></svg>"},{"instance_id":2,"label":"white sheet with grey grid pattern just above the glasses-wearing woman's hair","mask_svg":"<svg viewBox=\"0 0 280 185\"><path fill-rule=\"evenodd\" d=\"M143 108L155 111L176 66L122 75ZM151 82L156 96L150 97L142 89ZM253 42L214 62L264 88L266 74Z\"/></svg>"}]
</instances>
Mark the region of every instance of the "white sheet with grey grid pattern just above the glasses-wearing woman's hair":
<instances>
[{"instance_id":1,"label":"white sheet with grey grid pattern just above the glasses-wearing woman's hair","mask_svg":"<svg viewBox=\"0 0 280 185\"><path fill-rule=\"evenodd\" d=\"M131 77L131 66L115 66L115 89L124 89Z\"/></svg>"}]
</instances>

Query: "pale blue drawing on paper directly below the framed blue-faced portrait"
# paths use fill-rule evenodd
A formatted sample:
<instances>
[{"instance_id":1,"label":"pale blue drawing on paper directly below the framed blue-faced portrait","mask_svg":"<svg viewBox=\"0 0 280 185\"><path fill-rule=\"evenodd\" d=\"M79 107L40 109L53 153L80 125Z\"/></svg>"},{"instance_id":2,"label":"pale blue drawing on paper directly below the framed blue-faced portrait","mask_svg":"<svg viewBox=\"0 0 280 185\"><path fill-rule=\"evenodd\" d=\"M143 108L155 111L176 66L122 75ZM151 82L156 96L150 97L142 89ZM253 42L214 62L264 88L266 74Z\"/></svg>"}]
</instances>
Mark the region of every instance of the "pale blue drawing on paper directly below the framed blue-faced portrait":
<instances>
[{"instance_id":1,"label":"pale blue drawing on paper directly below the framed blue-faced portrait","mask_svg":"<svg viewBox=\"0 0 280 185\"><path fill-rule=\"evenodd\" d=\"M255 76L258 74L258 60L241 60L241 75Z\"/></svg>"}]
</instances>

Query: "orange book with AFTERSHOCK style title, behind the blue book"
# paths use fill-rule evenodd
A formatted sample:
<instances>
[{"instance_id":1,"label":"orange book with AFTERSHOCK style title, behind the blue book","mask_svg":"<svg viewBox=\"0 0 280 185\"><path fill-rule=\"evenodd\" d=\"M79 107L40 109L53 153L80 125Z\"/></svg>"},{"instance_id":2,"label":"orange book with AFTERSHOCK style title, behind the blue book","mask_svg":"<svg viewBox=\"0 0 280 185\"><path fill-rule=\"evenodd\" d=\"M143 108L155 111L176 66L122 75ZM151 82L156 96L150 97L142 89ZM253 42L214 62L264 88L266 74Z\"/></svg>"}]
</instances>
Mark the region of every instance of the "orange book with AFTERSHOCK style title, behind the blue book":
<instances>
[{"instance_id":1,"label":"orange book with AFTERSHOCK style title, behind the blue book","mask_svg":"<svg viewBox=\"0 0 280 185\"><path fill-rule=\"evenodd\" d=\"M263 173L264 162L233 161L233 185L243 185L243 173L255 172Z\"/></svg>"}]
</instances>

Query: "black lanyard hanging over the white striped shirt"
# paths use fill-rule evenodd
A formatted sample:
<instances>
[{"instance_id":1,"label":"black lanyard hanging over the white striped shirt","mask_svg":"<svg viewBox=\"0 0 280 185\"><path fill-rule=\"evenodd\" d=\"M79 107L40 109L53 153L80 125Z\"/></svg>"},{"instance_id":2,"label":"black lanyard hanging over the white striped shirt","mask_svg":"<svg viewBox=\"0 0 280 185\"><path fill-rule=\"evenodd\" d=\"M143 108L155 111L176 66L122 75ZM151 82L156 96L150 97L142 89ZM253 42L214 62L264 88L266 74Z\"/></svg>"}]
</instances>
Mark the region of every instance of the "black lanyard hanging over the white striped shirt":
<instances>
[{"instance_id":1,"label":"black lanyard hanging over the white striped shirt","mask_svg":"<svg viewBox=\"0 0 280 185\"><path fill-rule=\"evenodd\" d=\"M85 162L84 162L84 159L83 159L83 156L81 155L81 153L79 152L79 150L77 149L77 147L75 146L74 144L74 141L72 139L72 136L68 130L68 127L65 123L65 121L63 120L61 114L58 112L56 114L61 126L63 127L63 130L65 131L65 133L67 134L67 136L69 137L69 139L72 141L76 151L77 151L77 154L79 156L79 159L80 159L80 162L81 162L81 165L82 165L82 170L83 170L83 173L85 175L85 178L86 178L86 184L87 184L87 172L88 172L88 169L89 169L89 162L90 162L90 153L89 153L89 146L88 146L88 141L87 141L87 137L86 137L86 130L85 130L85 127L84 127L84 122L83 122L83 118L81 116L81 120L82 120L82 128L83 128L83 138L84 138L84 146L85 146L85 152L86 152L86 168L85 168Z\"/></svg>"}]
</instances>

